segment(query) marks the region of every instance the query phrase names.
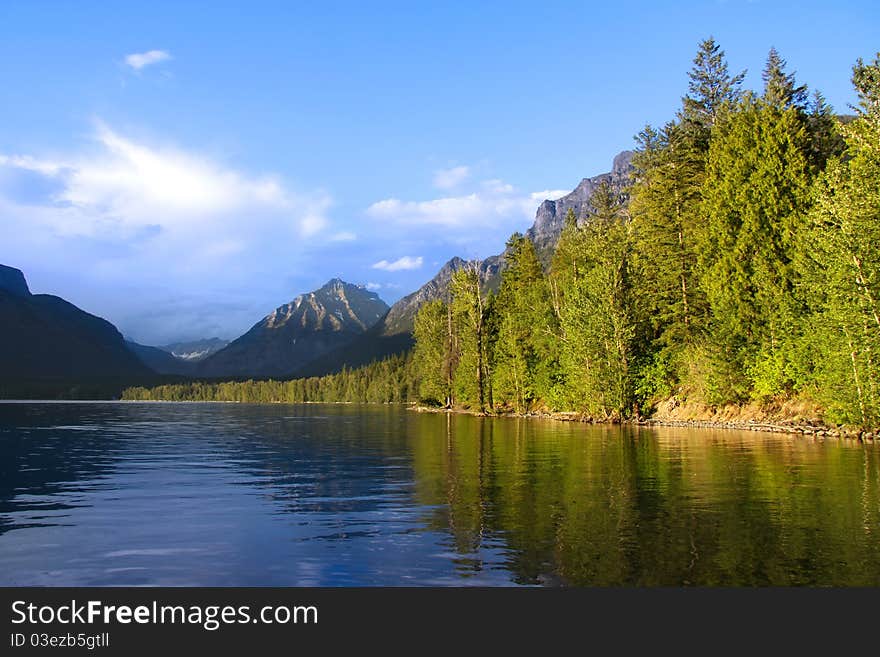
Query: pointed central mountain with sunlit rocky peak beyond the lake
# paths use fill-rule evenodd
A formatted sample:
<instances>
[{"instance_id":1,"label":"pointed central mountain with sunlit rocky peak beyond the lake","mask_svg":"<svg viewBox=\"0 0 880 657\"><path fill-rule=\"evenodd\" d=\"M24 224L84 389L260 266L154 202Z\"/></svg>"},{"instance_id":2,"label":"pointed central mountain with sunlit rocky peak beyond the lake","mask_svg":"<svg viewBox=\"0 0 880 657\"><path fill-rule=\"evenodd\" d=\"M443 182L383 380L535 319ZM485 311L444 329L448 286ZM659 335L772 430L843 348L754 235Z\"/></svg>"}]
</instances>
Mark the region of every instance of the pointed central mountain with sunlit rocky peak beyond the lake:
<instances>
[{"instance_id":1,"label":"pointed central mountain with sunlit rocky peak beyond the lake","mask_svg":"<svg viewBox=\"0 0 880 657\"><path fill-rule=\"evenodd\" d=\"M296 297L247 333L198 363L204 377L287 377L352 343L388 305L374 292L338 278Z\"/></svg>"}]
</instances>

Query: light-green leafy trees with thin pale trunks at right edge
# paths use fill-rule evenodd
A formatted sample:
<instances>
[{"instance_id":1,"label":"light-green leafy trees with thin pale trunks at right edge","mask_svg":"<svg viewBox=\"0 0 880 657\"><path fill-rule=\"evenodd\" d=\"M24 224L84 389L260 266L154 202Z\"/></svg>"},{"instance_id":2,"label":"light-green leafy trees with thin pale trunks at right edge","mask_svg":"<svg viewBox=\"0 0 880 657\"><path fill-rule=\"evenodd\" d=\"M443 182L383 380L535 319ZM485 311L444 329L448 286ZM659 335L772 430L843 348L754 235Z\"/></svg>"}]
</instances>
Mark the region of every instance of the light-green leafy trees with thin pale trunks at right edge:
<instances>
[{"instance_id":1,"label":"light-green leafy trees with thin pale trunks at right edge","mask_svg":"<svg viewBox=\"0 0 880 657\"><path fill-rule=\"evenodd\" d=\"M815 394L839 422L880 425L880 55L856 65L848 150L817 185L798 260L811 307Z\"/></svg>"}]
</instances>

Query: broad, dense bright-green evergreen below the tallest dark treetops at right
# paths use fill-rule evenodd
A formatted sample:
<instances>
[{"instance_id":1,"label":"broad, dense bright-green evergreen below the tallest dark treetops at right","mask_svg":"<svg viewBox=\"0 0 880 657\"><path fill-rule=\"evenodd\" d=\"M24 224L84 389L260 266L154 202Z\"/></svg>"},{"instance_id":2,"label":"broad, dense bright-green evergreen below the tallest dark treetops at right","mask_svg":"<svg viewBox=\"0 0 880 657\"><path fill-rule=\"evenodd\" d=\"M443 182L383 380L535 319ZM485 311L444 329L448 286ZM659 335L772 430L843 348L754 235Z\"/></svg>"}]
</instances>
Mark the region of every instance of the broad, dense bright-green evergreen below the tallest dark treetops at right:
<instances>
[{"instance_id":1,"label":"broad, dense bright-green evergreen below the tallest dark treetops at right","mask_svg":"<svg viewBox=\"0 0 880 657\"><path fill-rule=\"evenodd\" d=\"M709 401L790 386L795 319L792 261L809 203L808 138L798 111L747 99L713 137L698 246L711 308Z\"/></svg>"}]
</instances>

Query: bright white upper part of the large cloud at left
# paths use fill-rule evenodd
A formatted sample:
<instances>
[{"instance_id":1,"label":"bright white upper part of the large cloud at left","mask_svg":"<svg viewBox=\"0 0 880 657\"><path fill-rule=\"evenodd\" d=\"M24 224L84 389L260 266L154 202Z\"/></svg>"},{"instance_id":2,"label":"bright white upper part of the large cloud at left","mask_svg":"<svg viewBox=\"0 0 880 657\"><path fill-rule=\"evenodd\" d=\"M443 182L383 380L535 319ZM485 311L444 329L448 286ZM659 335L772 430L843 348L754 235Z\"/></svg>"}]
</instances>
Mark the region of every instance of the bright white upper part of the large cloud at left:
<instances>
[{"instance_id":1,"label":"bright white upper part of the large cloud at left","mask_svg":"<svg viewBox=\"0 0 880 657\"><path fill-rule=\"evenodd\" d=\"M97 150L68 159L0 155L0 166L41 174L56 186L42 221L61 235L130 236L254 229L260 218L287 223L303 237L327 226L330 199L286 189L276 176L249 176L173 147L136 142L99 125Z\"/></svg>"}]
</instances>

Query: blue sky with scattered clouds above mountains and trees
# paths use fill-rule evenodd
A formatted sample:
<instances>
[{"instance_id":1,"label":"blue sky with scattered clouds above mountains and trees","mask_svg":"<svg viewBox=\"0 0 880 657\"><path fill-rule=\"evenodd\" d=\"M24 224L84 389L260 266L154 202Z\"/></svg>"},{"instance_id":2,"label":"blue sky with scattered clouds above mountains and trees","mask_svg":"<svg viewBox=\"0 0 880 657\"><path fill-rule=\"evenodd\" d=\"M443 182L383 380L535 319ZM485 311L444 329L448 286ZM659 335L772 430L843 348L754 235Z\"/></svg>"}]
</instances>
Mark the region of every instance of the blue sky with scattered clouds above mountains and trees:
<instances>
[{"instance_id":1,"label":"blue sky with scattered clouds above mountains and trees","mask_svg":"<svg viewBox=\"0 0 880 657\"><path fill-rule=\"evenodd\" d=\"M713 35L838 111L873 2L0 5L0 262L148 344L498 253L670 118Z\"/></svg>"}]
</instances>

